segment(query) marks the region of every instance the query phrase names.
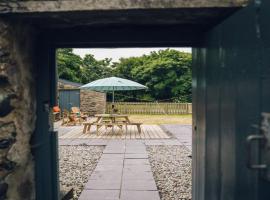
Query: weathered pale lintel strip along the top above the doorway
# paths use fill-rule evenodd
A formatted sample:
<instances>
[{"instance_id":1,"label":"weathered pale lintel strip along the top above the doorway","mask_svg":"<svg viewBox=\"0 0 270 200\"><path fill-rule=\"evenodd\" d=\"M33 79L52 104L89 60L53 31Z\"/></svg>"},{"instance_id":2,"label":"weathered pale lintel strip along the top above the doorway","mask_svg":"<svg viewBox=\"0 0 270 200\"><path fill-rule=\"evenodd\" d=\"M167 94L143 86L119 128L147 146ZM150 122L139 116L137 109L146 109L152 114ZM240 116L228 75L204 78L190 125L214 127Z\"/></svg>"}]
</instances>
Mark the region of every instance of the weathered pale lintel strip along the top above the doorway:
<instances>
[{"instance_id":1,"label":"weathered pale lintel strip along the top above the doorway","mask_svg":"<svg viewBox=\"0 0 270 200\"><path fill-rule=\"evenodd\" d=\"M250 0L6 0L0 13L63 12L121 9L235 7Z\"/></svg>"}]
</instances>

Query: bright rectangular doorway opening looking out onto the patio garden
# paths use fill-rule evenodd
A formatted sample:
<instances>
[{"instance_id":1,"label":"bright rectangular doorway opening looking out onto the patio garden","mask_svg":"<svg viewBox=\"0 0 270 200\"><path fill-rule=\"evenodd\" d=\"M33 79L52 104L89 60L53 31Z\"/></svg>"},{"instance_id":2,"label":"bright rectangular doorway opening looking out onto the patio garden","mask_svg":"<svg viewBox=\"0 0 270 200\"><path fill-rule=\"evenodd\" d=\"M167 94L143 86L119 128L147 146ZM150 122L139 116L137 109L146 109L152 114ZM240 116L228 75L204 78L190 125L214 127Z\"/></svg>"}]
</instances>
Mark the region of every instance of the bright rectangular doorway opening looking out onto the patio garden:
<instances>
[{"instance_id":1,"label":"bright rectangular doorway opening looking out onto the patio garden","mask_svg":"<svg viewBox=\"0 0 270 200\"><path fill-rule=\"evenodd\" d=\"M191 48L60 48L56 66L63 195L191 199ZM108 77L147 89L83 86Z\"/></svg>"}]
</instances>

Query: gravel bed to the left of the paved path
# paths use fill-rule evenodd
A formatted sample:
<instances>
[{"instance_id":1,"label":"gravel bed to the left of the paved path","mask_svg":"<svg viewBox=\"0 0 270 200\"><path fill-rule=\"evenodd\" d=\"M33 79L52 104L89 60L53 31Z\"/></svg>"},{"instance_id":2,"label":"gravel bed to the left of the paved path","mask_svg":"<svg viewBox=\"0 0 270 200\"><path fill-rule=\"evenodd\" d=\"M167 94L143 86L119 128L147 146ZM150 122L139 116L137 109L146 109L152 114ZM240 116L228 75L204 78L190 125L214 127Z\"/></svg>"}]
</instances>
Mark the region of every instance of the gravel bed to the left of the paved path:
<instances>
[{"instance_id":1,"label":"gravel bed to the left of the paved path","mask_svg":"<svg viewBox=\"0 0 270 200\"><path fill-rule=\"evenodd\" d=\"M74 189L78 199L84 185L95 169L104 146L60 146L59 179L63 190Z\"/></svg>"}]
</instances>

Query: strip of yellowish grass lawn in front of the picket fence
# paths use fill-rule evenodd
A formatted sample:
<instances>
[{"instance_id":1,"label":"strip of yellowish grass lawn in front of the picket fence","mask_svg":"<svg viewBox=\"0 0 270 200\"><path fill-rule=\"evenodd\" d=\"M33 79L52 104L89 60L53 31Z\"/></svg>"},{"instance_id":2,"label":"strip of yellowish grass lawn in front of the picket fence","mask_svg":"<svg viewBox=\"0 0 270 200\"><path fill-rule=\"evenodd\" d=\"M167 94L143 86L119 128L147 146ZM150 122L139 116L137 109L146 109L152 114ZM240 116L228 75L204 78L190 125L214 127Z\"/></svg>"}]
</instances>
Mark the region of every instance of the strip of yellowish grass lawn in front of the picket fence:
<instances>
[{"instance_id":1,"label":"strip of yellowish grass lawn in front of the picket fence","mask_svg":"<svg viewBox=\"0 0 270 200\"><path fill-rule=\"evenodd\" d=\"M192 124L192 115L130 115L129 119L144 124Z\"/></svg>"}]
</instances>

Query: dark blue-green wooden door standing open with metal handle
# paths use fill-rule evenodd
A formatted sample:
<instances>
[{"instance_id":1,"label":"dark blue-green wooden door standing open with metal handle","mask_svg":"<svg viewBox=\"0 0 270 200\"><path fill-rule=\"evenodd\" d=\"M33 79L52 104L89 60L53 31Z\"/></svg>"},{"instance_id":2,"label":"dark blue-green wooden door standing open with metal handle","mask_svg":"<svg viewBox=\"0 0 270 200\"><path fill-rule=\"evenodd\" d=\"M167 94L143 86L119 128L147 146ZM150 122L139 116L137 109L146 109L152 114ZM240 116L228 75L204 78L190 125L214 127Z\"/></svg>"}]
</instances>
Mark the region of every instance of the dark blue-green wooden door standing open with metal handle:
<instances>
[{"instance_id":1,"label":"dark blue-green wooden door standing open with metal handle","mask_svg":"<svg viewBox=\"0 0 270 200\"><path fill-rule=\"evenodd\" d=\"M270 199L270 131L260 129L270 113L269 8L254 1L193 51L195 200Z\"/></svg>"}]
</instances>

